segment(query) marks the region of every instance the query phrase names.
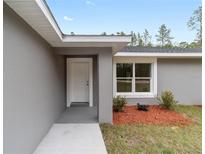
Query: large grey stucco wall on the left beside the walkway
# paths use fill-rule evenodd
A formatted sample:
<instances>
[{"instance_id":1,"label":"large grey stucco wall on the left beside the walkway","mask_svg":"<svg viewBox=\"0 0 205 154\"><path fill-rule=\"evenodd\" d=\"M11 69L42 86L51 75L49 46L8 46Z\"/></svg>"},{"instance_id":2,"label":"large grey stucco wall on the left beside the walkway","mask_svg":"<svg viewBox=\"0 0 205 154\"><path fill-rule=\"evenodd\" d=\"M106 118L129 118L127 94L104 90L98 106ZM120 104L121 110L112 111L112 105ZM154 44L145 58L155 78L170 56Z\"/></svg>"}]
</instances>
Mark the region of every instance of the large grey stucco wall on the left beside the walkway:
<instances>
[{"instance_id":1,"label":"large grey stucco wall on the left beside the walkway","mask_svg":"<svg viewBox=\"0 0 205 154\"><path fill-rule=\"evenodd\" d=\"M65 108L64 58L4 4L4 154L30 154Z\"/></svg>"}]
</instances>

